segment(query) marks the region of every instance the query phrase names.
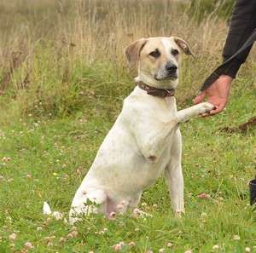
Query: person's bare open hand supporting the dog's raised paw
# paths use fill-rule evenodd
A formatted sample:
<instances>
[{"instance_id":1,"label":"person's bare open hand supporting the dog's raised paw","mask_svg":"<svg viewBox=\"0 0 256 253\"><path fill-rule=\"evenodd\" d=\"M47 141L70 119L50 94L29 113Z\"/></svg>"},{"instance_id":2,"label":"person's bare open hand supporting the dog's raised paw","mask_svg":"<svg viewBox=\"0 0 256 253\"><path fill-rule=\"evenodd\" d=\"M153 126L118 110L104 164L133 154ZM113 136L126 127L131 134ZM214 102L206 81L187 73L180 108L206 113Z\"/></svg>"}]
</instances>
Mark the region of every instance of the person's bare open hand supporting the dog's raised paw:
<instances>
[{"instance_id":1,"label":"person's bare open hand supporting the dog's raised paw","mask_svg":"<svg viewBox=\"0 0 256 253\"><path fill-rule=\"evenodd\" d=\"M203 114L203 117L214 115L224 110L229 99L232 81L233 78L230 76L221 75L211 86L195 97L195 104L201 103L207 96L207 102L215 106L215 109Z\"/></svg>"}]
</instances>

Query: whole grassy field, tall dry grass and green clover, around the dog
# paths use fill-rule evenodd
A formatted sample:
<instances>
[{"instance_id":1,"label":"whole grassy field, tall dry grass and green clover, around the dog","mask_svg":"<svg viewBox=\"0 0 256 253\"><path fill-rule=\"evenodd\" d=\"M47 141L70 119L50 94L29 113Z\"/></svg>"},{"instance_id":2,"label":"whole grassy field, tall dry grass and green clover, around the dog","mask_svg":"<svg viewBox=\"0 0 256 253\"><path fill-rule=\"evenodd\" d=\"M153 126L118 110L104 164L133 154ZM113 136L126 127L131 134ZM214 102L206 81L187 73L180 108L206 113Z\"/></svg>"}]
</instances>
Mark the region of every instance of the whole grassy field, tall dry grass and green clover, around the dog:
<instances>
[{"instance_id":1,"label":"whole grassy field, tall dry grass and green clover, around the dog","mask_svg":"<svg viewBox=\"0 0 256 253\"><path fill-rule=\"evenodd\" d=\"M197 60L183 57L177 104L192 105L221 61L228 27L218 9L198 20L188 4L0 2L0 253L108 253L121 241L120 252L256 252L247 187L256 174L255 128L221 131L255 116L255 50L233 83L227 109L181 126L183 218L172 214L164 178L143 193L139 208L152 217L90 216L72 227L43 215L47 201L67 218L73 194L135 86L126 45L157 35L186 39Z\"/></svg>"}]
</instances>

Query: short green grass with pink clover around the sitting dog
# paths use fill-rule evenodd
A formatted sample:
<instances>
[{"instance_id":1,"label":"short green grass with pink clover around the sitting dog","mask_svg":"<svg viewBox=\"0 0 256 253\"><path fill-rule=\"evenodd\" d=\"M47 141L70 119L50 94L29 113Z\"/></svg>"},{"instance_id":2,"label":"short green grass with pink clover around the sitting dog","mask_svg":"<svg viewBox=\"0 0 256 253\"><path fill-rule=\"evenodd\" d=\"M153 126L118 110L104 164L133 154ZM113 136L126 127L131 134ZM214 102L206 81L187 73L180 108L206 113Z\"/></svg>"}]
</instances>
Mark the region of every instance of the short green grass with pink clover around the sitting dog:
<instances>
[{"instance_id":1,"label":"short green grass with pink clover around the sitting dog","mask_svg":"<svg viewBox=\"0 0 256 253\"><path fill-rule=\"evenodd\" d=\"M186 204L182 219L174 218L165 181L160 178L143 193L141 202L147 205L140 208L152 218L126 214L107 221L102 216L87 217L78 224L78 235L64 243L60 238L67 238L73 228L44 216L43 203L47 201L67 217L73 194L113 124L116 110L111 114L109 107L99 107L92 114L88 107L64 118L32 114L2 124L0 158L10 161L0 162L0 252L20 252L27 241L35 247L31 252L112 252L112 245L119 241L137 244L125 246L122 252L158 252L160 248L213 252L215 244L218 252L245 252L245 247L256 252L256 213L248 206L247 191L247 181L255 175L255 129L232 135L218 130L253 116L256 94L247 81L236 81L224 113L182 126ZM211 198L198 198L200 193ZM104 228L108 231L98 234ZM13 248L11 233L17 234ZM234 235L241 239L234 240ZM171 249L166 247L169 242Z\"/></svg>"}]
</instances>

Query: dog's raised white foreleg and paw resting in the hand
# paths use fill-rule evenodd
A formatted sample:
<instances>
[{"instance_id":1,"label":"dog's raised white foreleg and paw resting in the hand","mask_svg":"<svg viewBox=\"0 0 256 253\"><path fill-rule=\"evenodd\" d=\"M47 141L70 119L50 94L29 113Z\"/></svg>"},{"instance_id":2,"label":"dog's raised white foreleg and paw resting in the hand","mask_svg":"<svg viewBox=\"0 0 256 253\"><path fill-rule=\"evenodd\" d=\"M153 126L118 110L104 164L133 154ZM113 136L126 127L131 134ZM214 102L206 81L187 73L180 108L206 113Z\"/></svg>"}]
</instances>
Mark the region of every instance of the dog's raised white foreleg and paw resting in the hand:
<instances>
[{"instance_id":1,"label":"dog's raised white foreleg and paw resting in the hand","mask_svg":"<svg viewBox=\"0 0 256 253\"><path fill-rule=\"evenodd\" d=\"M214 106L208 102L204 102L189 108L180 110L177 112L177 121L183 123L188 121L190 118L194 118L203 113L210 112Z\"/></svg>"}]
</instances>

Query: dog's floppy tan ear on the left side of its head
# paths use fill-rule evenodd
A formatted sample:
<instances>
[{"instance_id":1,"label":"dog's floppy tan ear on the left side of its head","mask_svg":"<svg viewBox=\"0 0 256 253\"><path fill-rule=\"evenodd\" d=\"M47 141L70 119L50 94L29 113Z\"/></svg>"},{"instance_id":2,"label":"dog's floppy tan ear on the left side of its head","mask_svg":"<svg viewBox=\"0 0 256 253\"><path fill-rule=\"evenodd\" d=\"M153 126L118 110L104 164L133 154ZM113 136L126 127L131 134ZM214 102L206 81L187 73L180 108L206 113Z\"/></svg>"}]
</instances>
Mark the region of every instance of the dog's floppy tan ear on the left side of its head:
<instances>
[{"instance_id":1,"label":"dog's floppy tan ear on the left side of its head","mask_svg":"<svg viewBox=\"0 0 256 253\"><path fill-rule=\"evenodd\" d=\"M146 43L147 43L147 39L141 38L141 39L137 40L136 42L131 43L129 46L127 46L125 48L125 56L126 56L131 67L135 68L137 66L137 62L139 60L140 53Z\"/></svg>"}]
</instances>

